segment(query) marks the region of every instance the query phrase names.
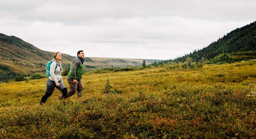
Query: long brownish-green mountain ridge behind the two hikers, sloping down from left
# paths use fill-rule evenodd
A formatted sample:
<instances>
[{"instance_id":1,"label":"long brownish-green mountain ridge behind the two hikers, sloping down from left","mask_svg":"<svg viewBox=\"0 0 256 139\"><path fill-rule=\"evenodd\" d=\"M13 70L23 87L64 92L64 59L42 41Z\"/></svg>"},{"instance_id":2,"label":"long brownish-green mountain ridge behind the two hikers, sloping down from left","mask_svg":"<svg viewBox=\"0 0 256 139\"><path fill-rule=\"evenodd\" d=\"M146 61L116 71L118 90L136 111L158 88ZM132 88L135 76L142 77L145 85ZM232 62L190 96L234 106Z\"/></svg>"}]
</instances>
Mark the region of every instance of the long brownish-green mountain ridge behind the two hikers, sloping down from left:
<instances>
[{"instance_id":1,"label":"long brownish-green mountain ridge behind the two hikers, sloping down from left","mask_svg":"<svg viewBox=\"0 0 256 139\"><path fill-rule=\"evenodd\" d=\"M46 62L53 59L54 52L43 51L15 36L0 33L0 81L15 76L45 73ZM75 57L62 53L63 68L69 68ZM84 58L85 71L103 67L141 66L143 59ZM145 59L146 64L155 61Z\"/></svg>"}]
</instances>

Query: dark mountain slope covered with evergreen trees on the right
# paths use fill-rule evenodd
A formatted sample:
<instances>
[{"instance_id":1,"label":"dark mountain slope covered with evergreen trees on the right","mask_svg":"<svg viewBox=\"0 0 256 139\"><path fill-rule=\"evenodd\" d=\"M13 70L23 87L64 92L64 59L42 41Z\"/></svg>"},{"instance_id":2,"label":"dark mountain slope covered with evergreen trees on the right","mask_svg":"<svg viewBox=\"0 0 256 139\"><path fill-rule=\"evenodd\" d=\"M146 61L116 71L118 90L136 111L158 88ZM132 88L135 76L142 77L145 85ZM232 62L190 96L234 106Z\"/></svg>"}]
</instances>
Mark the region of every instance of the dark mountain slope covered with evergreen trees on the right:
<instances>
[{"instance_id":1,"label":"dark mountain slope covered with evergreen trees on the right","mask_svg":"<svg viewBox=\"0 0 256 139\"><path fill-rule=\"evenodd\" d=\"M184 62L187 57L195 61L201 60L202 57L211 60L224 53L240 60L256 58L256 21L227 33L201 50L194 50L189 55L171 61Z\"/></svg>"}]
</instances>

